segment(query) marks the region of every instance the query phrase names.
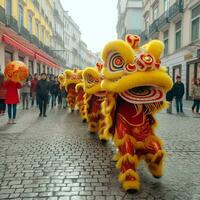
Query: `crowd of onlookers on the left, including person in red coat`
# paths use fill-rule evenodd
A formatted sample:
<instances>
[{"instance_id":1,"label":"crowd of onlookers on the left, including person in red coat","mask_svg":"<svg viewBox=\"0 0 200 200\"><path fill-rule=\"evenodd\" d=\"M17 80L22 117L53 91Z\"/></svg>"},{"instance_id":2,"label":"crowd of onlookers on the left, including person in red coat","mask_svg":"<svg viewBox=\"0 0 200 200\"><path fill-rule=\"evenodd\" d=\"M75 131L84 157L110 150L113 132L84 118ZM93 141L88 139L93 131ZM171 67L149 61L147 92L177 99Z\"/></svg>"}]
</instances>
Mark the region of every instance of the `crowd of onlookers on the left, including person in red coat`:
<instances>
[{"instance_id":1,"label":"crowd of onlookers on the left, including person in red coat","mask_svg":"<svg viewBox=\"0 0 200 200\"><path fill-rule=\"evenodd\" d=\"M20 98L19 98L20 97ZM47 106L66 108L67 93L60 87L57 76L53 74L34 74L22 83L5 80L0 73L0 115L8 111L8 124L15 124L17 104L22 103L22 108L38 107L39 116L46 117ZM6 106L7 105L7 106Z\"/></svg>"}]
</instances>

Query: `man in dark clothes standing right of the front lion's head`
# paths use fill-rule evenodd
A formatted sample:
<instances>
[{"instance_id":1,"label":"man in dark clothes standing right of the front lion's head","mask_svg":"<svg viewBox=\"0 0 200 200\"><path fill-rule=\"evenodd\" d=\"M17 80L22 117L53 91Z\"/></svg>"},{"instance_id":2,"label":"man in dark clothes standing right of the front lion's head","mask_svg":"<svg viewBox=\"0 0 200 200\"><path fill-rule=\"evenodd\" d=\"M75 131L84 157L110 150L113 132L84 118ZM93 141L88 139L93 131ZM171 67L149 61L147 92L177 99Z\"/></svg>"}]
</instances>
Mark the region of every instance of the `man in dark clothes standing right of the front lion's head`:
<instances>
[{"instance_id":1,"label":"man in dark clothes standing right of the front lion's head","mask_svg":"<svg viewBox=\"0 0 200 200\"><path fill-rule=\"evenodd\" d=\"M173 85L173 96L176 99L176 111L177 114L183 114L183 95L185 93L184 84L181 82L181 76L176 77L176 82Z\"/></svg>"}]
</instances>

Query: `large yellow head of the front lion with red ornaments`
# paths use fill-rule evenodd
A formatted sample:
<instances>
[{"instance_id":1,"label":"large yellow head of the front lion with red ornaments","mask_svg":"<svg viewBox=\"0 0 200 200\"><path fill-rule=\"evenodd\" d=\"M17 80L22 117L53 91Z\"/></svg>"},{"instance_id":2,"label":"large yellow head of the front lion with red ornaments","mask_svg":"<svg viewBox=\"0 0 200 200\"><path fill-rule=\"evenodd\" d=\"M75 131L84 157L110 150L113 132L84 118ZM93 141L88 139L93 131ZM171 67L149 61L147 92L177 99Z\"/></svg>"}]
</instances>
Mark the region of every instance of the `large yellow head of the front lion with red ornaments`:
<instances>
[{"instance_id":1,"label":"large yellow head of the front lion with red ornaments","mask_svg":"<svg viewBox=\"0 0 200 200\"><path fill-rule=\"evenodd\" d=\"M163 101L172 87L171 78L160 65L164 44L159 40L139 44L139 36L128 34L125 41L112 41L104 47L101 86L132 103Z\"/></svg>"}]
</instances>

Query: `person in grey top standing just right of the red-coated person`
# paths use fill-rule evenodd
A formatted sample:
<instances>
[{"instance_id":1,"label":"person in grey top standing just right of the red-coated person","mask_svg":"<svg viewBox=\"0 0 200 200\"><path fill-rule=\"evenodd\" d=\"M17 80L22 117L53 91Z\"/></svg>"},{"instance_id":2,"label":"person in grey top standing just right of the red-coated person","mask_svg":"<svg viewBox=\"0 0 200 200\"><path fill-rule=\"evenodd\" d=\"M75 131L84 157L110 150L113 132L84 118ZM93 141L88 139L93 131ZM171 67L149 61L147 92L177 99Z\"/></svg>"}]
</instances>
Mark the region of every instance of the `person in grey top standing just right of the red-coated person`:
<instances>
[{"instance_id":1,"label":"person in grey top standing just right of the red-coated person","mask_svg":"<svg viewBox=\"0 0 200 200\"><path fill-rule=\"evenodd\" d=\"M21 88L23 110L29 109L30 91L31 91L31 81L29 80L29 78L27 78L22 83L22 88Z\"/></svg>"}]
</instances>

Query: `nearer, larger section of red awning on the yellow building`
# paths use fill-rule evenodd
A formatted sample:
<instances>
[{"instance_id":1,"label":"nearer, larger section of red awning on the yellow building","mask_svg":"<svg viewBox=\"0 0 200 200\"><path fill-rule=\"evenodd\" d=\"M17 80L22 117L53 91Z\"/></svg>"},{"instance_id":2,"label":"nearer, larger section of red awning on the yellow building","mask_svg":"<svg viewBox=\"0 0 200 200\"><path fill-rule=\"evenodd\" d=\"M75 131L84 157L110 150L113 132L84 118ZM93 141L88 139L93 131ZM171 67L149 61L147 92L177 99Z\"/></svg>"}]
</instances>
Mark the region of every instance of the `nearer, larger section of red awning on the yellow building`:
<instances>
[{"instance_id":1,"label":"nearer, larger section of red awning on the yellow building","mask_svg":"<svg viewBox=\"0 0 200 200\"><path fill-rule=\"evenodd\" d=\"M32 51L31 49L29 49L29 48L25 47L24 45L20 44L16 40L13 40L10 36L8 36L6 34L3 34L2 41L5 42L8 45L11 45L11 46L15 47L19 51L22 51L23 53L28 54L31 57L34 57L34 55L35 55L34 51Z\"/></svg>"}]
</instances>

